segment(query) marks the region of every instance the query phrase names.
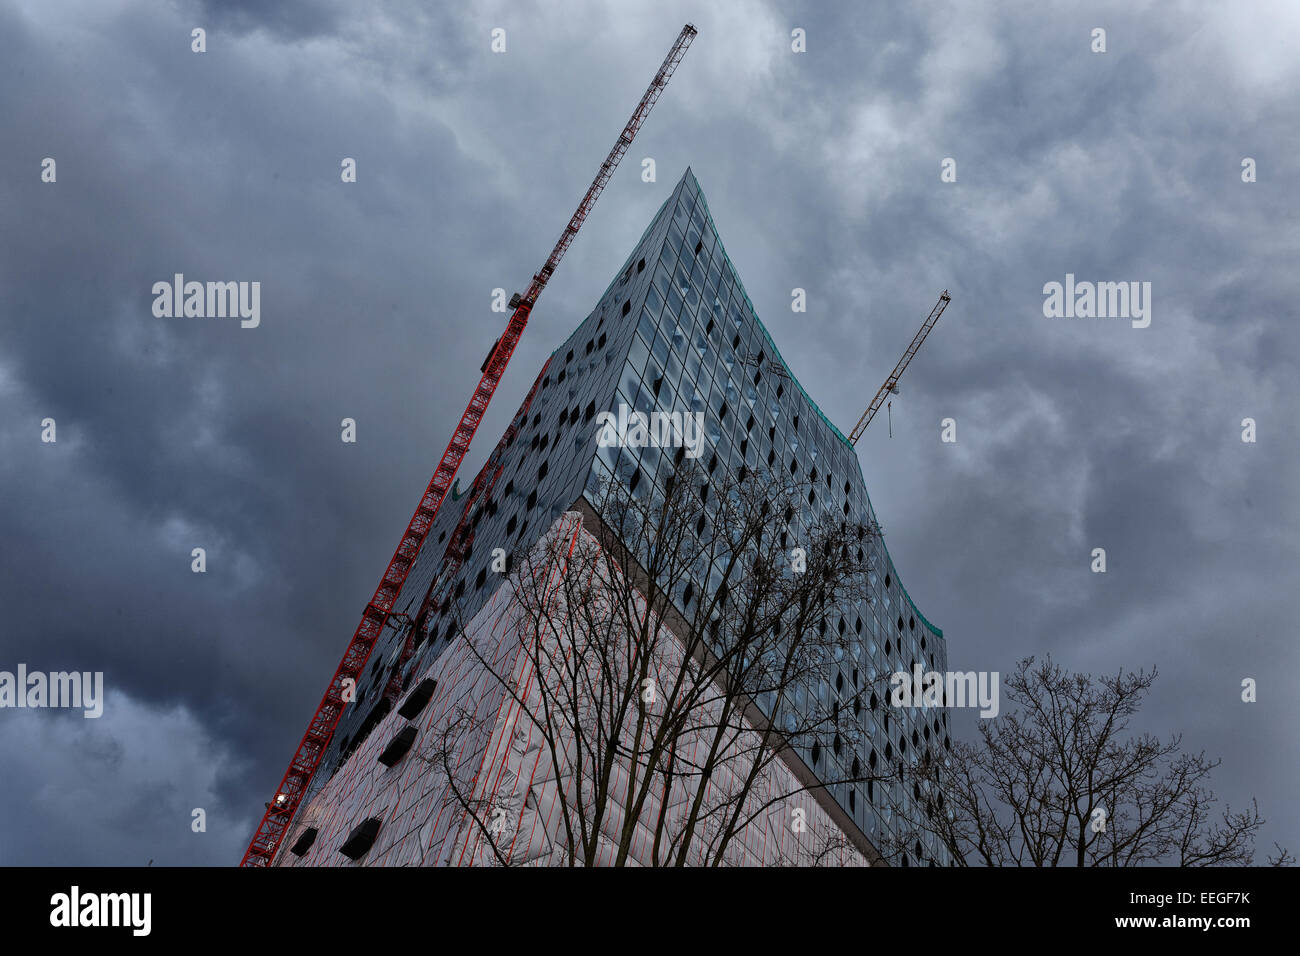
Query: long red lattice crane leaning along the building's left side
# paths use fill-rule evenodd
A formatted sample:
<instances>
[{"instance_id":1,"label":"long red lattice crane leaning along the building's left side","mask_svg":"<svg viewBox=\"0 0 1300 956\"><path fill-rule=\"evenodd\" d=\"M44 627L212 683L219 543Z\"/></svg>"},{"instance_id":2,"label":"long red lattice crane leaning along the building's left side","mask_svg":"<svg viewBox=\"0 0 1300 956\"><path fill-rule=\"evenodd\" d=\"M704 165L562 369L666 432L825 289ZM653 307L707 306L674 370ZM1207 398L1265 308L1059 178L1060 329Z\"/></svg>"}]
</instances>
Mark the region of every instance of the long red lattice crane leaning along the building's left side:
<instances>
[{"instance_id":1,"label":"long red lattice crane leaning along the building's left side","mask_svg":"<svg viewBox=\"0 0 1300 956\"><path fill-rule=\"evenodd\" d=\"M668 51L668 56L659 65L659 72L655 73L649 88L645 91L637 108L632 112L632 118L628 120L618 140L614 143L614 148L610 150L610 155L601 164L595 179L592 181L586 195L582 196L582 202L578 203L577 211L569 219L568 225L564 226L564 232L551 250L550 256L547 256L546 263L533 276L533 281L528 285L528 290L523 295L516 293L511 297L510 307L515 311L506 325L506 330L493 345L491 351L488 352L488 359L481 367L482 377L478 380L478 386L469 397L469 405L465 407L464 415L460 416L456 431L451 434L447 450L442 453L442 460L438 462L438 467L434 470L433 477L429 480L429 485L425 488L424 496L420 498L420 503L411 516L396 550L393 553L393 559L389 562L380 585L374 589L374 596L365 605L365 610L361 614L361 623L358 624L356 632L347 645L347 650L343 652L343 659L339 662L338 670L334 671L334 678L330 680L325 696L321 697L321 702L316 708L311 723L307 726L307 732L303 735L302 743L294 752L294 758L289 763L283 779L280 782L280 788L276 791L274 799L266 804L266 813L263 816L261 823L257 826L257 832L244 852L243 860L239 864L240 866L269 866L274 858L276 851L289 831L289 825L292 822L294 814L298 812L302 799L307 793L312 778L316 775L316 769L320 766L325 748L334 735L334 728L338 727L343 709L351 698L344 697L344 691L350 689L355 695L358 679L365 669L370 650L374 648L389 617L393 614L393 604L396 601L402 585L411 571L411 566L420 553L420 546L429 533L433 519L438 514L447 490L451 488L451 481L456 476L460 462L469 450L469 442L473 440L474 432L478 429L478 424L488 411L488 403L491 401L493 393L495 393L497 385L506 372L506 365L515 352L515 346L519 345L520 336L524 334L524 326L528 325L528 316L533 306L537 304L537 297L546 287L551 274L555 272L555 267L559 265L569 243L573 242L573 237L577 235L577 230L582 228L582 222L604 190L610 177L614 176L614 170L632 144L637 130L641 129L650 109L658 101L663 88L668 85L668 79L677 69L677 64L685 56L686 48L696 38L696 27L690 23L681 27L681 33Z\"/></svg>"}]
</instances>

